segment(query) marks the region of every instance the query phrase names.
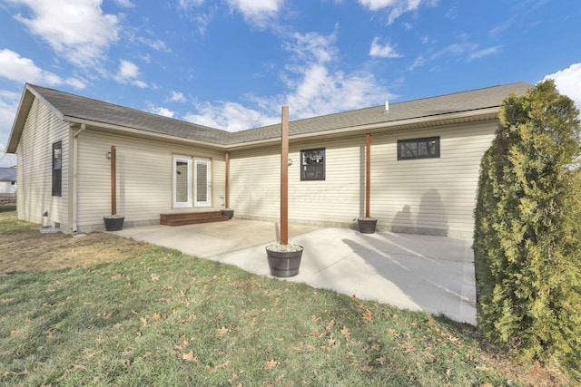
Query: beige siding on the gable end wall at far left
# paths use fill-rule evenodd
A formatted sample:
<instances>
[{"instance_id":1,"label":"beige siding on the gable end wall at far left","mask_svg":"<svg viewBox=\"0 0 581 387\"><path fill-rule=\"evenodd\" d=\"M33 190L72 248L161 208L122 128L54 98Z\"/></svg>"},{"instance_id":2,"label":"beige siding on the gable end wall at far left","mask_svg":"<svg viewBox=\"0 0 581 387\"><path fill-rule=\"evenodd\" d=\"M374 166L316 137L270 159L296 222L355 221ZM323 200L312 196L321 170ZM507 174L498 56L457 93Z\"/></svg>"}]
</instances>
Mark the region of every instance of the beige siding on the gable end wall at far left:
<instances>
[{"instance_id":1,"label":"beige siding on the gable end wall at far left","mask_svg":"<svg viewBox=\"0 0 581 387\"><path fill-rule=\"evenodd\" d=\"M63 143L62 196L52 196L53 144ZM62 229L68 224L69 129L68 125L44 103L34 99L27 115L22 137L16 149L18 156L16 192L18 218ZM48 217L43 217L48 212Z\"/></svg>"}]
</instances>

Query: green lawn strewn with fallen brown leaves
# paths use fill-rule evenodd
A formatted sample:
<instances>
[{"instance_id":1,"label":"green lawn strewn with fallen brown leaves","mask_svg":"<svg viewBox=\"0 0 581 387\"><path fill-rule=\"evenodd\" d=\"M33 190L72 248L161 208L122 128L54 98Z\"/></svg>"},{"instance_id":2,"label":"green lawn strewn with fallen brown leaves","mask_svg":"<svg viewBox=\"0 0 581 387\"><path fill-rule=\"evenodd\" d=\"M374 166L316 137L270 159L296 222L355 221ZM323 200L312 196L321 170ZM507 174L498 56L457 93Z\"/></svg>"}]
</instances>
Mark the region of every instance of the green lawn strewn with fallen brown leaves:
<instances>
[{"instance_id":1,"label":"green lawn strewn with fallen brown leaves","mask_svg":"<svg viewBox=\"0 0 581 387\"><path fill-rule=\"evenodd\" d=\"M0 254L18 255L14 238L7 242L15 233L46 248L72 238L41 235L0 211ZM131 243L111 238L115 248ZM496 386L533 378L480 349L469 325L153 246L81 268L0 272L0 311L2 385Z\"/></svg>"}]
</instances>

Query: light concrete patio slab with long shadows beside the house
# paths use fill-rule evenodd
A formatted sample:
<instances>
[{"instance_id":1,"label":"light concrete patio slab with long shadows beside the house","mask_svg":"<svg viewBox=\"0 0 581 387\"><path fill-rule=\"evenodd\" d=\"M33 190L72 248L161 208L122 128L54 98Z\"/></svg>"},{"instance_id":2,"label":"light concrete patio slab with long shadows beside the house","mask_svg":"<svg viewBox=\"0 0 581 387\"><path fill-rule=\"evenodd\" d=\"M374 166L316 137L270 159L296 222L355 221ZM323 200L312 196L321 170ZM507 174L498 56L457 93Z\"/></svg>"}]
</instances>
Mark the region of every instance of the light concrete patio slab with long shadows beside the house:
<instances>
[{"instance_id":1,"label":"light concrete patio slab with long shadows beside the house","mask_svg":"<svg viewBox=\"0 0 581 387\"><path fill-rule=\"evenodd\" d=\"M115 234L270 276L264 247L278 239L279 230L273 223L234 218L129 227ZM289 243L303 246L304 252L299 275L285 280L476 324L470 240L293 224L289 236Z\"/></svg>"}]
</instances>

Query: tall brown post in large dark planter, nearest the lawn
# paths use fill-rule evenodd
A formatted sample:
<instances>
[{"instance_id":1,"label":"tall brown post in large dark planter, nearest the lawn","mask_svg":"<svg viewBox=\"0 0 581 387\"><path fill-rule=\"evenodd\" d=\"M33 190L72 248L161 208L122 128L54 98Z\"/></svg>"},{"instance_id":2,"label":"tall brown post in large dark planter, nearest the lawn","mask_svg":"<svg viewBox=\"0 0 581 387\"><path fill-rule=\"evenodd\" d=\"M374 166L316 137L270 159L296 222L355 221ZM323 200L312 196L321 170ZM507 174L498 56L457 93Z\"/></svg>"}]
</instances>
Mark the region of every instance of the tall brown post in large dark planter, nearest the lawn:
<instances>
[{"instance_id":1,"label":"tall brown post in large dark planter, nearest the lawn","mask_svg":"<svg viewBox=\"0 0 581 387\"><path fill-rule=\"evenodd\" d=\"M289 244L289 107L281 122L281 241L266 247L271 276L297 276L303 247Z\"/></svg>"}]
</instances>

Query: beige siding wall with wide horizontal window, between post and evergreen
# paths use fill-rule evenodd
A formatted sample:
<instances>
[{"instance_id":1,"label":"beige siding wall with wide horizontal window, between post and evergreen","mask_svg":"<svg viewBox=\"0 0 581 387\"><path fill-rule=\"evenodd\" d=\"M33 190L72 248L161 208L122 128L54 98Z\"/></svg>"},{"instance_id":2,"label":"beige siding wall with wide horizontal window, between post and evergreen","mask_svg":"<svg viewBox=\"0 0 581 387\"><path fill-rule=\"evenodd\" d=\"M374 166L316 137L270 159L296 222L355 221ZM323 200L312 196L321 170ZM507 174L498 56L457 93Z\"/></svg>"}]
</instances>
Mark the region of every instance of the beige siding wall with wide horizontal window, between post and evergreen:
<instances>
[{"instance_id":1,"label":"beige siding wall with wide horizontal window, between post and evergreen","mask_svg":"<svg viewBox=\"0 0 581 387\"><path fill-rule=\"evenodd\" d=\"M379 227L472 237L478 170L496 122L372 136L371 216ZM397 160L397 141L439 136L440 158Z\"/></svg>"}]
</instances>

